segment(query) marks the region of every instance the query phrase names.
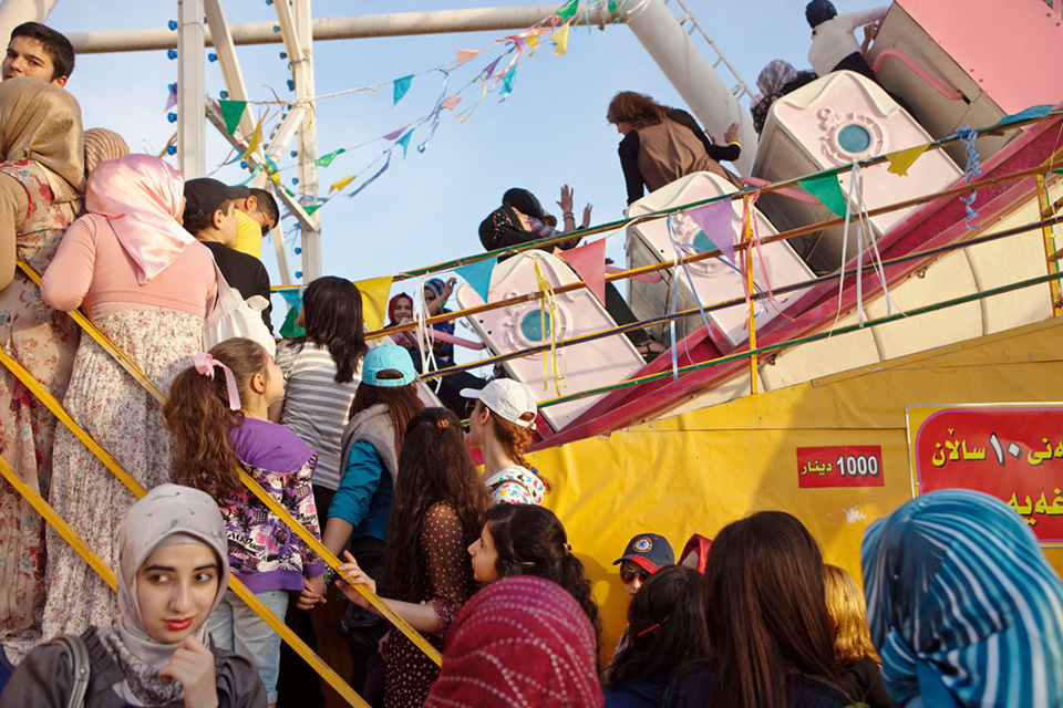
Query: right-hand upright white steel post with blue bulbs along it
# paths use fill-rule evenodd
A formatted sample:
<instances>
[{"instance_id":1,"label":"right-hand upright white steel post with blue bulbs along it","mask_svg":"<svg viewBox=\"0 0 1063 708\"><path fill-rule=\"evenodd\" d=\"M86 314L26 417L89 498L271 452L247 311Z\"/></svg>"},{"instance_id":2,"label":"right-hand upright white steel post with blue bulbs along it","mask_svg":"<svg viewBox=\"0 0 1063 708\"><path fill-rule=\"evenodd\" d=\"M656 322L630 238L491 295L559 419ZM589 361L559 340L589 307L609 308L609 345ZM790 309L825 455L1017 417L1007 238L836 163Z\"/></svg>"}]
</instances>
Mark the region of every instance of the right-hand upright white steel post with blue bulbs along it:
<instances>
[{"instance_id":1,"label":"right-hand upright white steel post with blue bulbs along it","mask_svg":"<svg viewBox=\"0 0 1063 708\"><path fill-rule=\"evenodd\" d=\"M296 20L296 37L301 52L292 61L292 74L296 82L296 98L307 101L313 97L313 24L310 17L310 0L293 0L292 10ZM318 127L317 106L309 105L299 129L299 188L309 197L318 196ZM318 228L302 227L302 281L309 283L321 277L321 231Z\"/></svg>"}]
</instances>

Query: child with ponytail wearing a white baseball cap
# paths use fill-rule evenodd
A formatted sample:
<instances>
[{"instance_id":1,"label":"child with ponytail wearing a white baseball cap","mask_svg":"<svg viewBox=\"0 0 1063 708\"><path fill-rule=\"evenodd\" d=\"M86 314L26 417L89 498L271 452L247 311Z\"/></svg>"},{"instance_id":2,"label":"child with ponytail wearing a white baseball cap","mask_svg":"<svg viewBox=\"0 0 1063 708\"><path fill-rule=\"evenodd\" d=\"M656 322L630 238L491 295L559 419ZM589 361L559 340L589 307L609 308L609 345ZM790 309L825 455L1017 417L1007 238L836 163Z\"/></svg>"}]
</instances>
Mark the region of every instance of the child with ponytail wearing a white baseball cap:
<instances>
[{"instance_id":1,"label":"child with ponytail wearing a white baseball cap","mask_svg":"<svg viewBox=\"0 0 1063 708\"><path fill-rule=\"evenodd\" d=\"M496 378L482 391L463 388L462 396L476 400L468 416L468 442L484 456L484 482L492 501L543 503L548 486L524 459L535 429L532 391L512 378Z\"/></svg>"}]
</instances>

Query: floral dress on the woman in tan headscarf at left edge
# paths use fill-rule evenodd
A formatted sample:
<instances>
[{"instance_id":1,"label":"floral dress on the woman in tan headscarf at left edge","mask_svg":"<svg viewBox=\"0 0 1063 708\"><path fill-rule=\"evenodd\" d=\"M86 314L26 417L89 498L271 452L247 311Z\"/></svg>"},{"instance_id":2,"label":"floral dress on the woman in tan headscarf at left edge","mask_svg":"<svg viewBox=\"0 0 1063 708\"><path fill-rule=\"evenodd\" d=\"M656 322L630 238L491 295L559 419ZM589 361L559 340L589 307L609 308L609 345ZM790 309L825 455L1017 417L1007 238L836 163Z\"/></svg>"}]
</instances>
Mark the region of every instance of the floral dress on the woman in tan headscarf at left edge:
<instances>
[{"instance_id":1,"label":"floral dress on the woman in tan headscarf at left edge","mask_svg":"<svg viewBox=\"0 0 1063 708\"><path fill-rule=\"evenodd\" d=\"M16 253L43 272L81 204L54 204L54 194L35 163L2 164L0 173L18 179L29 199L25 219L17 227ZM0 291L0 346L60 400L70 382L79 334L73 320L48 308L21 271ZM44 404L0 367L0 455L45 499L56 424ZM12 662L40 642L44 525L14 488L0 479L0 642Z\"/></svg>"}]
</instances>

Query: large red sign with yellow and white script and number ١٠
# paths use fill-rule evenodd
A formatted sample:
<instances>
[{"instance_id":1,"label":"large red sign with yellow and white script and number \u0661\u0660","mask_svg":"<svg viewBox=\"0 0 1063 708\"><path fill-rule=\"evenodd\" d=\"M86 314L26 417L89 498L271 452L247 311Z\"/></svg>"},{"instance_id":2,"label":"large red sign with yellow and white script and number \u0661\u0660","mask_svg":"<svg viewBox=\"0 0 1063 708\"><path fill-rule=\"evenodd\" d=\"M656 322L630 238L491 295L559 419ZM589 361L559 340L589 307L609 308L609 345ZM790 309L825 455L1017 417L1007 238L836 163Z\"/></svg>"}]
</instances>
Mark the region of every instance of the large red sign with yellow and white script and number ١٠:
<instances>
[{"instance_id":1,"label":"large red sign with yellow and white script and number \u0661\u0660","mask_svg":"<svg viewBox=\"0 0 1063 708\"><path fill-rule=\"evenodd\" d=\"M909 408L908 416L919 493L983 491L1018 511L1042 543L1063 543L1063 406Z\"/></svg>"}]
</instances>

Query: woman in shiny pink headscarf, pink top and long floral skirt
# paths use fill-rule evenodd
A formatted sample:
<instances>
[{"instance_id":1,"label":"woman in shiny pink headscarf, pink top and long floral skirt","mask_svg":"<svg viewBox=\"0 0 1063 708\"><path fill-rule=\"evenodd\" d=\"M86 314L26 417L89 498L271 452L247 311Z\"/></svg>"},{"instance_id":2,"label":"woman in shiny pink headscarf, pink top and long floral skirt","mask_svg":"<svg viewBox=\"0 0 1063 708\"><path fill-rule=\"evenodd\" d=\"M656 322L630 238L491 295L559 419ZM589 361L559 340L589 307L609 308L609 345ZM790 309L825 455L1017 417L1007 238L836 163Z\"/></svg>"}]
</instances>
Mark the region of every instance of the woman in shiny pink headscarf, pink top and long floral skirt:
<instances>
[{"instance_id":1,"label":"woman in shiny pink headscarf, pink top and long floral skirt","mask_svg":"<svg viewBox=\"0 0 1063 708\"><path fill-rule=\"evenodd\" d=\"M87 214L63 237L41 293L89 317L164 392L202 347L215 298L210 251L180 226L184 178L163 160L128 155L89 178ZM82 337L63 407L144 487L174 481L159 404L91 337ZM51 502L111 568L133 493L73 434L55 436ZM102 580L52 529L44 636L111 622Z\"/></svg>"}]
</instances>

